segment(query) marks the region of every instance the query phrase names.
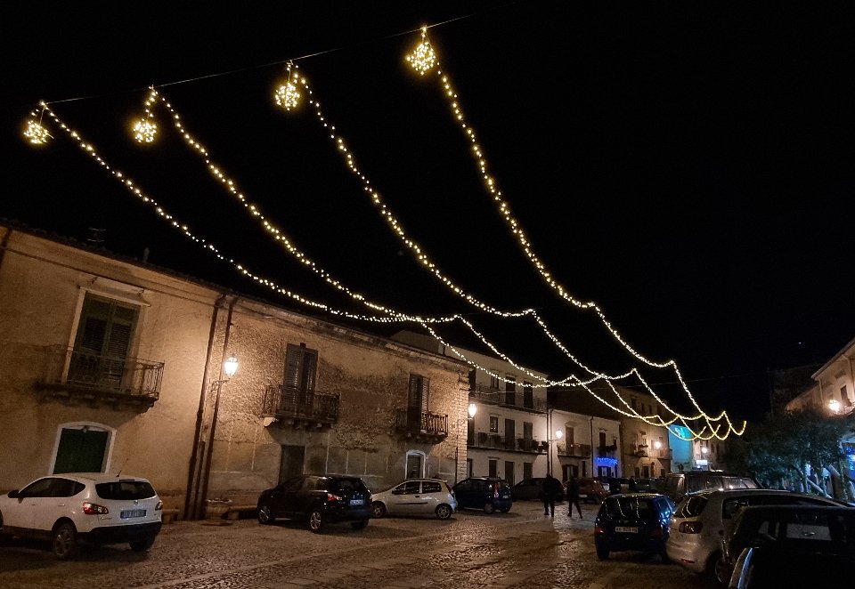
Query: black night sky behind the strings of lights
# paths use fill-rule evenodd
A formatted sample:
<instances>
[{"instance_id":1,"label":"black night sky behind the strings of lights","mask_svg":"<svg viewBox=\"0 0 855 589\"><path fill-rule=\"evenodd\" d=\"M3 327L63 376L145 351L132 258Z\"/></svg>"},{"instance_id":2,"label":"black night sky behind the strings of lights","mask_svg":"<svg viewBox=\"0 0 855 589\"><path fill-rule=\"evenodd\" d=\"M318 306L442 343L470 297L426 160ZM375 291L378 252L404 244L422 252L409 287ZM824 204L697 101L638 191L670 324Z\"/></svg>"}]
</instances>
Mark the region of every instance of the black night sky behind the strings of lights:
<instances>
[{"instance_id":1,"label":"black night sky behind the strings of lights","mask_svg":"<svg viewBox=\"0 0 855 589\"><path fill-rule=\"evenodd\" d=\"M855 30L843 3L170 4L4 4L0 217L81 242L99 228L111 252L147 250L164 268L316 312L185 238L61 130L28 146L23 125L45 100L223 254L314 300L368 312L275 244L165 110L154 111L157 143L132 140L155 85L247 200L332 277L396 310L464 314L519 362L581 374L533 321L491 317L415 261L313 109L273 102L293 61L446 276L502 310L537 309L590 367L638 367L595 314L544 285L511 236L436 77L404 61L428 25L535 254L644 357L676 359L705 410L758 418L769 370L818 367L855 336ZM440 331L474 345L459 327ZM685 403L672 371L644 374Z\"/></svg>"}]
</instances>

